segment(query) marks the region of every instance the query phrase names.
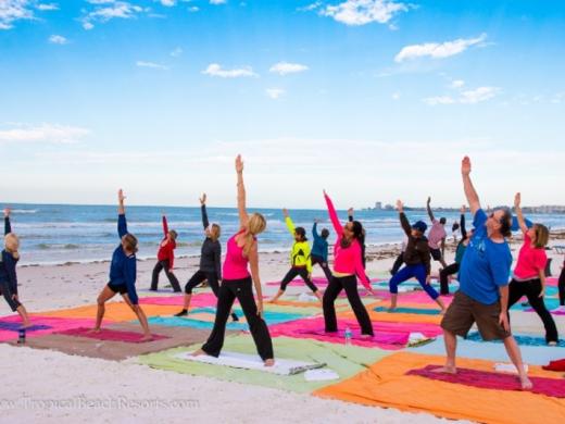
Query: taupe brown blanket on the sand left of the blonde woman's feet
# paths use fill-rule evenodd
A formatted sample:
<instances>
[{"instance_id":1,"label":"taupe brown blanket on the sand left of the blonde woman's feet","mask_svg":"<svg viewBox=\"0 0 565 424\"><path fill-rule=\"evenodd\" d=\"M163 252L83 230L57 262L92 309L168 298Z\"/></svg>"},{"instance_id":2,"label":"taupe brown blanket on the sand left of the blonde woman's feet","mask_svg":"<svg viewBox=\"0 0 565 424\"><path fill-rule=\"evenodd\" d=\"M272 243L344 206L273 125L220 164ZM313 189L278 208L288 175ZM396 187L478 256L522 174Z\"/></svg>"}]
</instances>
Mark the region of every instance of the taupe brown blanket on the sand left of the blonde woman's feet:
<instances>
[{"instance_id":1,"label":"taupe brown blanket on the sand left of the blonde woman's feet","mask_svg":"<svg viewBox=\"0 0 565 424\"><path fill-rule=\"evenodd\" d=\"M108 328L136 333L141 331L139 323L115 323L109 325ZM203 344L210 336L209 329L164 327L158 325L151 325L150 328L151 332L167 336L167 338L143 344L130 344L125 341L106 341L87 337L50 334L28 339L26 346L35 349L60 351L66 354L100 358L110 361L123 361L127 358L161 352L179 346ZM233 334L233 332L226 332L226 335L230 334ZM16 342L12 341L12 344L15 345Z\"/></svg>"}]
</instances>

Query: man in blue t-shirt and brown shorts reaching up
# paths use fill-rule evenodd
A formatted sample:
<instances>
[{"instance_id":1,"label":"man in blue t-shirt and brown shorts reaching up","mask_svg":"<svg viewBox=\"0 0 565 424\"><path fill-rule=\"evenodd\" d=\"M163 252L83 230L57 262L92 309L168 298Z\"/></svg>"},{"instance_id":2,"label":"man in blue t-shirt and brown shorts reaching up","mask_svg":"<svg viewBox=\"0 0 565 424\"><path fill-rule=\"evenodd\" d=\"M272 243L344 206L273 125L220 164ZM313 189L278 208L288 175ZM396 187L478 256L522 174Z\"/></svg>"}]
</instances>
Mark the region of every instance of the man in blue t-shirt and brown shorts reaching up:
<instances>
[{"instance_id":1,"label":"man in blue t-shirt and brown shorts reaching up","mask_svg":"<svg viewBox=\"0 0 565 424\"><path fill-rule=\"evenodd\" d=\"M487 216L470 182L470 160L461 164L463 188L474 215L475 233L463 255L460 270L460 290L449 307L441 327L448 358L438 372L456 373L456 336L466 337L474 323L484 340L502 339L510 359L516 366L523 389L532 387L516 340L511 334L507 303L512 254L505 237L511 234L512 214L500 209Z\"/></svg>"}]
</instances>

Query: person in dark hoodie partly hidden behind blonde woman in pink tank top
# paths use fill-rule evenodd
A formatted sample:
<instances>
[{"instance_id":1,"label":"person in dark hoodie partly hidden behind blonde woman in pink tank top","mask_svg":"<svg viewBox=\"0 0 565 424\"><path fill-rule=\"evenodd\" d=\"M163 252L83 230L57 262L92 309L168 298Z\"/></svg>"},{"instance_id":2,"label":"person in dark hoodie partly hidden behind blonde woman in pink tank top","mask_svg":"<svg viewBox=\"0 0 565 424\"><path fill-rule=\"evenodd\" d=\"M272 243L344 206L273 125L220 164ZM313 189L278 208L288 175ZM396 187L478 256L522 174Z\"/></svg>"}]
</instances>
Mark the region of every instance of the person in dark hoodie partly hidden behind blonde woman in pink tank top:
<instances>
[{"instance_id":1,"label":"person in dark hoodie partly hidden behind blonde woman in pink tank top","mask_svg":"<svg viewBox=\"0 0 565 424\"><path fill-rule=\"evenodd\" d=\"M190 300L192 299L192 290L204 280L208 282L216 297L219 292L219 282L222 280L222 245L219 244L221 227L217 224L211 225L208 220L206 194L203 194L200 198L200 208L202 212L202 225L204 226L206 238L202 244L200 266L185 286L185 303L183 310L175 314L175 316L188 315L188 308L190 308ZM231 319L234 321L239 321L234 311L231 311Z\"/></svg>"}]
</instances>

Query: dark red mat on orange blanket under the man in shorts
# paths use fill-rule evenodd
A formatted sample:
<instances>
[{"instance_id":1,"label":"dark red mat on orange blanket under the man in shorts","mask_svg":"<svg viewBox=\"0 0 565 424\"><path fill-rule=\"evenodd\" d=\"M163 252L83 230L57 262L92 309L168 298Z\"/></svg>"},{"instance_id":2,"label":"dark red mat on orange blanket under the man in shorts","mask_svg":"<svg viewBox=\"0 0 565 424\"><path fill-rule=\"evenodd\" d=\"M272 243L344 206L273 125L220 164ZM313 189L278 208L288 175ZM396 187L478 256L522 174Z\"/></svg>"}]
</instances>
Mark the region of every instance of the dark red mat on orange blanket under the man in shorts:
<instances>
[{"instance_id":1,"label":"dark red mat on orange blanket under the man in shorts","mask_svg":"<svg viewBox=\"0 0 565 424\"><path fill-rule=\"evenodd\" d=\"M462 384L494 390L522 390L517 375L491 373L468 369L457 369L457 374L435 373L438 365L428 365L418 370L411 370L406 374L419 375L430 379L447 383ZM529 377L533 384L531 391L538 395L565 398L565 382L560 378Z\"/></svg>"}]
</instances>

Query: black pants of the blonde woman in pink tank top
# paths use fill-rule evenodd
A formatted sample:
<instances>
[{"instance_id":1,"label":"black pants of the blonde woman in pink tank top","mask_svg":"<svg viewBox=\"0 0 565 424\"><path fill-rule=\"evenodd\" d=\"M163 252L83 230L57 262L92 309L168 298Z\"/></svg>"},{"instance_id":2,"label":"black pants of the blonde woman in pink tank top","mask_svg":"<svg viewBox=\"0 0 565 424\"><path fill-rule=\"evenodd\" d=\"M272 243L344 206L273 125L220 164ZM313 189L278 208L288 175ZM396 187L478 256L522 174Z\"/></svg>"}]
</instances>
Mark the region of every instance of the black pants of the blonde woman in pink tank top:
<instances>
[{"instance_id":1,"label":"black pants of the blonde woman in pink tank top","mask_svg":"<svg viewBox=\"0 0 565 424\"><path fill-rule=\"evenodd\" d=\"M202 346L202 350L212 357L218 357L224 346L224 336L226 333L226 323L231 311L231 305L236 298L241 304L241 309L246 314L249 331L253 336L253 341L258 348L258 353L263 361L273 359L273 341L268 334L268 327L265 321L258 315L258 307L251 288L251 277L243 279L224 279L219 286L219 295L217 297L216 319L214 328Z\"/></svg>"}]
</instances>

